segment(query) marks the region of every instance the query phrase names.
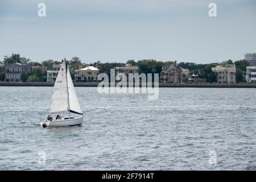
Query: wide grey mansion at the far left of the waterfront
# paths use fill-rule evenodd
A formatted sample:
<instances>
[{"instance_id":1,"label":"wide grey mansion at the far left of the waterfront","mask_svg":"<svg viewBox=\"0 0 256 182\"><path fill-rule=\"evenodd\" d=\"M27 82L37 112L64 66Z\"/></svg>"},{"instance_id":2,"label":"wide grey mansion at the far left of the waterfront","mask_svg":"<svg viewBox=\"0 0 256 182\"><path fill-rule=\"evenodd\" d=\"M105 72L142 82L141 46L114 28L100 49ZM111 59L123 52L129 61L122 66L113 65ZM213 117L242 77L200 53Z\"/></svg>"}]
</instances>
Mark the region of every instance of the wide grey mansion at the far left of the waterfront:
<instances>
[{"instance_id":1,"label":"wide grey mansion at the far left of the waterfront","mask_svg":"<svg viewBox=\"0 0 256 182\"><path fill-rule=\"evenodd\" d=\"M5 81L21 82L21 75L30 75L31 66L21 63L11 63L5 65Z\"/></svg>"}]
</instances>

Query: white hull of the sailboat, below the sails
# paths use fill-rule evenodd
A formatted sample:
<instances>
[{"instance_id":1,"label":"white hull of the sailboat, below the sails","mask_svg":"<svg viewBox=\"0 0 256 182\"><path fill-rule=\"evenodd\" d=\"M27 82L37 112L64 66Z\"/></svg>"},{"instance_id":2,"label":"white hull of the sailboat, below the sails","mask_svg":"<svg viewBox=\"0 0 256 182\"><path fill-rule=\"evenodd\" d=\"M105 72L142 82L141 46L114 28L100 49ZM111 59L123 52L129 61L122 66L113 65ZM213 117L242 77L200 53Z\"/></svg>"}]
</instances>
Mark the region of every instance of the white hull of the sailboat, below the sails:
<instances>
[{"instance_id":1,"label":"white hull of the sailboat, below the sails","mask_svg":"<svg viewBox=\"0 0 256 182\"><path fill-rule=\"evenodd\" d=\"M82 121L84 120L84 116L82 117L62 117L61 119L54 119L52 121L42 121L42 127L60 127L60 126L76 126L82 125Z\"/></svg>"}]
</instances>

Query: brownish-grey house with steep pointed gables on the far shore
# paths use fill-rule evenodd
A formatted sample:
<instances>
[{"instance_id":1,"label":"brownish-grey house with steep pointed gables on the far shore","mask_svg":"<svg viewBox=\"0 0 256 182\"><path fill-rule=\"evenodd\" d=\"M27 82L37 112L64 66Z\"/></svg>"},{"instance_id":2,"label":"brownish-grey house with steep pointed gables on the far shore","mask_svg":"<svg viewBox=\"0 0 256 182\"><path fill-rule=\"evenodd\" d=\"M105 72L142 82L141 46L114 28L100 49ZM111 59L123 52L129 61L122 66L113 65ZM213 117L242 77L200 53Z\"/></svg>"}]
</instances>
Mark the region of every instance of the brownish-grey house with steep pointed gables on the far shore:
<instances>
[{"instance_id":1,"label":"brownish-grey house with steep pointed gables on the far shore","mask_svg":"<svg viewBox=\"0 0 256 182\"><path fill-rule=\"evenodd\" d=\"M177 61L170 65L167 65L162 68L160 73L160 81L163 82L182 82L182 68L177 67Z\"/></svg>"}]
</instances>

